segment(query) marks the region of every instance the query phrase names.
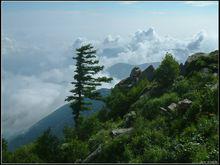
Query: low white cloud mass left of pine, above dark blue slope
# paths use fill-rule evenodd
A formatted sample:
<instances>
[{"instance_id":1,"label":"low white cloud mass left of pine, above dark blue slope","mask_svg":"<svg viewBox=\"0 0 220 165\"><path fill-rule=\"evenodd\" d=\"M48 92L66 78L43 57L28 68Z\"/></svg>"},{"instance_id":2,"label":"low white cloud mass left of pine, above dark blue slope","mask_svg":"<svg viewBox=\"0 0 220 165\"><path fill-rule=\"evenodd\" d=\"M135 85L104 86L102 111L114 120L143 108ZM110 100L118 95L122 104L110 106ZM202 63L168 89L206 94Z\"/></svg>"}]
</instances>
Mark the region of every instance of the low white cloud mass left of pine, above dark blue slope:
<instances>
[{"instance_id":1,"label":"low white cloud mass left of pine, above dark blue slope","mask_svg":"<svg viewBox=\"0 0 220 165\"><path fill-rule=\"evenodd\" d=\"M6 137L24 131L64 104L68 87L9 72L4 72L2 84L3 134Z\"/></svg>"}]
</instances>

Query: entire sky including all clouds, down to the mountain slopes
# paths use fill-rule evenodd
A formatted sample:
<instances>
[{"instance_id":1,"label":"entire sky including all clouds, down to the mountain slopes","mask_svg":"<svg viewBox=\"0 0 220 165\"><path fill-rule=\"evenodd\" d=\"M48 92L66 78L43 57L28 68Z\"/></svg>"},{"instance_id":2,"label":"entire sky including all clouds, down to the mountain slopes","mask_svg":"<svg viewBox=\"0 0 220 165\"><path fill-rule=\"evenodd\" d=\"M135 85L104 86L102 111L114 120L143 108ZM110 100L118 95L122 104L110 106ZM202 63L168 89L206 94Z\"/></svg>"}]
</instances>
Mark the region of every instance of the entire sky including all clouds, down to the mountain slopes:
<instances>
[{"instance_id":1,"label":"entire sky including all clouds, down to the mountain slopes","mask_svg":"<svg viewBox=\"0 0 220 165\"><path fill-rule=\"evenodd\" d=\"M1 9L6 138L65 104L72 56L82 44L98 49L105 68L160 62L166 52L184 62L195 52L218 49L217 1L3 2Z\"/></svg>"}]
</instances>

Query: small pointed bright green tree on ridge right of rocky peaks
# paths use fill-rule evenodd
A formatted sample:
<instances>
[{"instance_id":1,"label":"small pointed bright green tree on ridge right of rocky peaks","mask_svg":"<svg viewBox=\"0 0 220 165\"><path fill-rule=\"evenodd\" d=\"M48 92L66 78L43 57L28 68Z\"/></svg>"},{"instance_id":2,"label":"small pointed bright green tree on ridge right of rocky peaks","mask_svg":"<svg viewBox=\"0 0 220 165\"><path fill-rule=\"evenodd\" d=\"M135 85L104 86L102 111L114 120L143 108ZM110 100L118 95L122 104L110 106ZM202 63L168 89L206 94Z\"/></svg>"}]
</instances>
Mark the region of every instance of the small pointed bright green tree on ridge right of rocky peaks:
<instances>
[{"instance_id":1,"label":"small pointed bright green tree on ridge right of rocky peaks","mask_svg":"<svg viewBox=\"0 0 220 165\"><path fill-rule=\"evenodd\" d=\"M156 69L155 79L162 87L168 87L178 77L179 72L178 62L171 54L167 53L160 66Z\"/></svg>"}]
</instances>

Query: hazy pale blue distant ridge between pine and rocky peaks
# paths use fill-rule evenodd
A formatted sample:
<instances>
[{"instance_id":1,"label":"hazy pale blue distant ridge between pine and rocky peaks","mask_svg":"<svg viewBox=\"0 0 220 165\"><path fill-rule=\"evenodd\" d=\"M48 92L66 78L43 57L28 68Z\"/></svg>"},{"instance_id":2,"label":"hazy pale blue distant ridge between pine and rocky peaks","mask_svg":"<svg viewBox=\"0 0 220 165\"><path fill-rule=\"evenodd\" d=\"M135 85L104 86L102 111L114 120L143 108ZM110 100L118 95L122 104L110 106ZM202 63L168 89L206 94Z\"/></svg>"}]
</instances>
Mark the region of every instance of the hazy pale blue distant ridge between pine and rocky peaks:
<instances>
[{"instance_id":1,"label":"hazy pale blue distant ridge between pine and rocky peaks","mask_svg":"<svg viewBox=\"0 0 220 165\"><path fill-rule=\"evenodd\" d=\"M157 68L160 65L160 62L144 63L140 65L132 65L127 63L117 63L107 68L106 71L110 76L116 77L117 79L124 79L129 76L130 71L135 67L139 67L141 70L146 69L152 65L154 68Z\"/></svg>"}]
</instances>

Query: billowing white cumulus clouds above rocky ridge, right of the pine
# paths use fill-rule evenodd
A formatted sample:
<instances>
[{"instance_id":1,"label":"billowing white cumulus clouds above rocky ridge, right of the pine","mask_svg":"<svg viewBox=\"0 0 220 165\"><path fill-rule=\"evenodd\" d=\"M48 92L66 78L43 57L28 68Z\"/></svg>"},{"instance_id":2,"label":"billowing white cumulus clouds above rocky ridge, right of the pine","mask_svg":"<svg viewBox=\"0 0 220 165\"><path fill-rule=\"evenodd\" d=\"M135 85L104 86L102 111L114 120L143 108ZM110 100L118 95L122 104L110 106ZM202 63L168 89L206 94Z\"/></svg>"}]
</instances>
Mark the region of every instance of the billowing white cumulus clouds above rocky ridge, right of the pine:
<instances>
[{"instance_id":1,"label":"billowing white cumulus clouds above rocky ridge, right of the pine","mask_svg":"<svg viewBox=\"0 0 220 165\"><path fill-rule=\"evenodd\" d=\"M201 45L207 39L204 31L201 31L190 39L180 40L169 36L160 36L153 28L147 31L137 31L127 43L118 44L114 49L114 56L102 52L100 61L109 67L118 62L130 64L142 64L149 62L160 62L166 52L172 53L177 60L184 62L186 58L196 51L207 51ZM100 45L102 47L102 45ZM217 43L212 49L217 48ZM106 49L106 48L105 48ZM109 53L110 54L110 53Z\"/></svg>"}]
</instances>

